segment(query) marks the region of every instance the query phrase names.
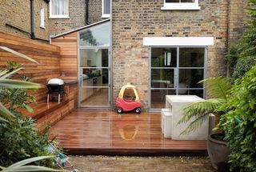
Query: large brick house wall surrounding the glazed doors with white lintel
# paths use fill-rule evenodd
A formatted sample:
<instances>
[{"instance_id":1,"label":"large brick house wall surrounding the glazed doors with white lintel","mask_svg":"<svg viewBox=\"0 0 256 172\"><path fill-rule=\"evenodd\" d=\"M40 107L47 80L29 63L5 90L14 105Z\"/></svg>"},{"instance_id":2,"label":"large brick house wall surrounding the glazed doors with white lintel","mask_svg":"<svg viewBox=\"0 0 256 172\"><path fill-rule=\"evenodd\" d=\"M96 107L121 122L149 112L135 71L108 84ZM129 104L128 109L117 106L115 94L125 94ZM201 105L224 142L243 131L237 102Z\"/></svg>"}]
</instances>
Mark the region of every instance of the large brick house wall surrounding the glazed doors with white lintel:
<instances>
[{"instance_id":1,"label":"large brick house wall surrounding the glazed doors with white lintel","mask_svg":"<svg viewBox=\"0 0 256 172\"><path fill-rule=\"evenodd\" d=\"M208 49L208 76L226 75L223 54L228 41L241 36L243 26L235 13L244 14L245 2L199 0L201 10L161 10L163 0L113 0L114 98L123 85L133 82L143 108L149 106L149 52L142 46L144 37L214 37L214 46Z\"/></svg>"}]
</instances>

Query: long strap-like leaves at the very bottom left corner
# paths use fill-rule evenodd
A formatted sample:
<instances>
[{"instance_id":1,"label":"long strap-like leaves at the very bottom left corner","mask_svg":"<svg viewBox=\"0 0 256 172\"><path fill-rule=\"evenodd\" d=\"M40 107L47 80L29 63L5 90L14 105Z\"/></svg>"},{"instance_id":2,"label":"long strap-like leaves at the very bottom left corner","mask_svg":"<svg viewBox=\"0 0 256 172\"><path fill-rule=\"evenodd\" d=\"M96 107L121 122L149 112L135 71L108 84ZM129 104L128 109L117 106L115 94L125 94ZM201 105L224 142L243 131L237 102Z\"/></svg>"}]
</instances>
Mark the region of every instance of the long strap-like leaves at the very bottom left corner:
<instances>
[{"instance_id":1,"label":"long strap-like leaves at the very bottom left corner","mask_svg":"<svg viewBox=\"0 0 256 172\"><path fill-rule=\"evenodd\" d=\"M39 160L46 159L46 158L53 158L53 156L42 156L42 157L35 157L23 160L21 162L16 162L15 164L8 166L7 168L0 166L2 172L22 172L22 171L66 171L66 170L55 170L50 169L45 166L31 166L28 165L32 162L38 162ZM26 166L25 166L26 165Z\"/></svg>"}]
</instances>

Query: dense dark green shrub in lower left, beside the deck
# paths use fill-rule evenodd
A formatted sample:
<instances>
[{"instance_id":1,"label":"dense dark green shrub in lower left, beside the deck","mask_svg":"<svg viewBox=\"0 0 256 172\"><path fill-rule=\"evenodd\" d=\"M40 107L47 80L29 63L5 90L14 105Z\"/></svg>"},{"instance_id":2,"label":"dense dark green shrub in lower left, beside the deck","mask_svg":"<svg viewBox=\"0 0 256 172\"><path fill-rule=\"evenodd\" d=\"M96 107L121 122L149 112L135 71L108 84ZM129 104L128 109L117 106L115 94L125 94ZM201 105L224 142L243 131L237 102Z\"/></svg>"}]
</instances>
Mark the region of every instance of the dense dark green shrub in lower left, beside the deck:
<instances>
[{"instance_id":1,"label":"dense dark green shrub in lower left, beside the deck","mask_svg":"<svg viewBox=\"0 0 256 172\"><path fill-rule=\"evenodd\" d=\"M0 121L1 166L10 166L26 158L49 154L44 149L49 142L48 135L43 134L39 137L38 130L34 129L35 125L32 118L18 117L17 122ZM52 159L45 159L40 165L52 166Z\"/></svg>"}]
</instances>

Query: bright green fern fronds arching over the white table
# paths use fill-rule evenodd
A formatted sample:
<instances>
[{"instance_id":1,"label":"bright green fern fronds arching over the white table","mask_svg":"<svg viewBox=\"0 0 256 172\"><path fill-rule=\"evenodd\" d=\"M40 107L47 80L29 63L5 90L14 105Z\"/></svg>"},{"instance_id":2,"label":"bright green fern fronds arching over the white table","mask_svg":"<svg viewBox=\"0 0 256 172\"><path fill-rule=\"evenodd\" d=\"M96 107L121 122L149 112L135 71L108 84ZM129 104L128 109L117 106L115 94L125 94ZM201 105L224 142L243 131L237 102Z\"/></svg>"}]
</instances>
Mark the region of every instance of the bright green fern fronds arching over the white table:
<instances>
[{"instance_id":1,"label":"bright green fern fronds arching over the white table","mask_svg":"<svg viewBox=\"0 0 256 172\"><path fill-rule=\"evenodd\" d=\"M230 94L231 82L228 78L206 78L199 83L206 84L206 90L211 99L194 102L184 107L184 116L179 120L178 124L189 122L190 119L194 119L194 121L181 134L189 134L197 130L212 113L222 114L223 112L219 111L218 107L227 102L228 94Z\"/></svg>"}]
</instances>

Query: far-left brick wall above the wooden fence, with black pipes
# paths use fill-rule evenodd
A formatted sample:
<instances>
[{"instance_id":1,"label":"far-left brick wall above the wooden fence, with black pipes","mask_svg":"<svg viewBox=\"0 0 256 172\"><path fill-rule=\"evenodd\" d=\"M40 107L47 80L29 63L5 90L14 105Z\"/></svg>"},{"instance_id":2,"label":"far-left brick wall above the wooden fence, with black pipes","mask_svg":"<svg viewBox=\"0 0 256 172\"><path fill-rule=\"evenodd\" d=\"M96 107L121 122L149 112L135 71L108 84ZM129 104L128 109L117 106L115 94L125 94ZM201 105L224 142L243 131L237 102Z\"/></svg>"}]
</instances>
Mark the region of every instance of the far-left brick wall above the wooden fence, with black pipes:
<instances>
[{"instance_id":1,"label":"far-left brick wall above the wooden fence, with black pipes","mask_svg":"<svg viewBox=\"0 0 256 172\"><path fill-rule=\"evenodd\" d=\"M41 7L45 8L45 29L40 27ZM48 10L48 3L43 0L34 0L34 34L36 38L45 41L49 41ZM0 21L0 31L30 38L30 0L1 0Z\"/></svg>"}]
</instances>

